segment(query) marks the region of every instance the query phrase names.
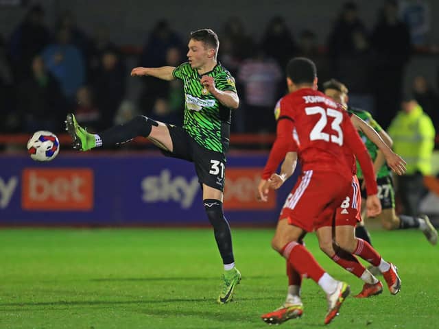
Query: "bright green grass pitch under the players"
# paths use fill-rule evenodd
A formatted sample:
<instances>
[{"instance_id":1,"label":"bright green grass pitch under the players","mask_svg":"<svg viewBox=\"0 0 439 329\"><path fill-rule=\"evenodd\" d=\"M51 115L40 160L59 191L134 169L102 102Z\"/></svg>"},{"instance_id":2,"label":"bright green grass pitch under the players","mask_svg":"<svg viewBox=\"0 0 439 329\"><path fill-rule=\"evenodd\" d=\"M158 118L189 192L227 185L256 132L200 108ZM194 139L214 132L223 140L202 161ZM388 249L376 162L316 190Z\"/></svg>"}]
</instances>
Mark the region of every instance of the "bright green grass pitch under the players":
<instances>
[{"instance_id":1,"label":"bright green grass pitch under the players","mask_svg":"<svg viewBox=\"0 0 439 329\"><path fill-rule=\"evenodd\" d=\"M222 263L211 230L0 230L0 328L267 328L281 305L285 261L273 230L234 230L243 280L235 302L217 305ZM373 232L399 267L401 293L348 298L333 328L439 328L439 249L416 231ZM307 247L335 278L361 282ZM305 314L285 328L323 327L326 299L305 280Z\"/></svg>"}]
</instances>

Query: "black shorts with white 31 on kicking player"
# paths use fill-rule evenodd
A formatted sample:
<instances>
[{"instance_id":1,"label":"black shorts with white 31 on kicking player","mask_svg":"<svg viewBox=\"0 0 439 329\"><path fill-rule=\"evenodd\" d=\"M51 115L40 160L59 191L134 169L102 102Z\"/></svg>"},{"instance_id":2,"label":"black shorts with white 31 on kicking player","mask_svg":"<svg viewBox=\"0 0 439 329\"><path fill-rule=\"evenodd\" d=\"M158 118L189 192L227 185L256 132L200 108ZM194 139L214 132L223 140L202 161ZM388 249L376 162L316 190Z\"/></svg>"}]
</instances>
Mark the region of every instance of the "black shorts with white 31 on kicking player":
<instances>
[{"instance_id":1,"label":"black shorts with white 31 on kicking player","mask_svg":"<svg viewBox=\"0 0 439 329\"><path fill-rule=\"evenodd\" d=\"M173 151L161 149L165 156L187 160L195 164L195 172L200 185L206 184L224 191L226 154L202 147L182 127L167 125Z\"/></svg>"}]
</instances>

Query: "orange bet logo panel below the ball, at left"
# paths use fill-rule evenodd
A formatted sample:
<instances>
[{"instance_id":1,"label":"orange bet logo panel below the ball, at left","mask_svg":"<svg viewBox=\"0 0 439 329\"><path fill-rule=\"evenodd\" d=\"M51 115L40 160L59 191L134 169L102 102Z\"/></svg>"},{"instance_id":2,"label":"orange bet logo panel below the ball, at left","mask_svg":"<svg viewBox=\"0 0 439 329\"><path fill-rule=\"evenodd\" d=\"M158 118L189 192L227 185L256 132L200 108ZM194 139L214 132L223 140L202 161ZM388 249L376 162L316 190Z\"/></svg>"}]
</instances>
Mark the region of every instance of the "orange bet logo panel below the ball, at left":
<instances>
[{"instance_id":1,"label":"orange bet logo panel below the ball, at left","mask_svg":"<svg viewBox=\"0 0 439 329\"><path fill-rule=\"evenodd\" d=\"M93 194L91 169L23 170L23 210L91 210Z\"/></svg>"}]
</instances>

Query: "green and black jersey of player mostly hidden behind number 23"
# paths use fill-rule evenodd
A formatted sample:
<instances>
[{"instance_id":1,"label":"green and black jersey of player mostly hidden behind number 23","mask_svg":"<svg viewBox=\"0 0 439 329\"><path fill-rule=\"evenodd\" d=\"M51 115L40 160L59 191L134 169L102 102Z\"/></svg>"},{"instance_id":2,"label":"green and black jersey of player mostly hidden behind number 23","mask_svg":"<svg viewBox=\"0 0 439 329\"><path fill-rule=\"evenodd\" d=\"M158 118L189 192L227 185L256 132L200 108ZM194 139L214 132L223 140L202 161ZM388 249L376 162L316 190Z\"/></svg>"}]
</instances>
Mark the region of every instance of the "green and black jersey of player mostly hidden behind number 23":
<instances>
[{"instance_id":1,"label":"green and black jersey of player mostly hidden behind number 23","mask_svg":"<svg viewBox=\"0 0 439 329\"><path fill-rule=\"evenodd\" d=\"M351 108L348 107L348 112L357 115L357 117L360 117L364 121L366 121L373 129L375 129L376 132L381 132L383 128L373 119L372 115L365 111L360 110L358 108ZM366 149L368 149L368 152L370 154L370 158L372 158L373 161L375 161L375 158L377 158L378 153L378 147L372 141L370 141L369 138L366 137L366 135L363 132L358 132L359 136L361 137L361 140L363 141L364 145L366 145ZM390 175L390 169L387 167L387 164L383 164L381 168L379 169L377 173L377 178L383 178L385 176ZM363 178L363 171L361 171L361 167L359 166L359 163L357 161L357 177Z\"/></svg>"}]
</instances>

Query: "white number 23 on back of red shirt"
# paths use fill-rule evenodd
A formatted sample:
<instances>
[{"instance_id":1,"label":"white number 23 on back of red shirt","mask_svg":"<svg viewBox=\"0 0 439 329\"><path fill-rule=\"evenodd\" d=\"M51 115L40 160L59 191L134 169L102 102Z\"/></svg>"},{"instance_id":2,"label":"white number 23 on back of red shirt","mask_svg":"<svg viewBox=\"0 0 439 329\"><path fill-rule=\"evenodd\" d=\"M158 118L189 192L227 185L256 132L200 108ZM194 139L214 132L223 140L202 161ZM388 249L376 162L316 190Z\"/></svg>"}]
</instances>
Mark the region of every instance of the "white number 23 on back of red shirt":
<instances>
[{"instance_id":1,"label":"white number 23 on back of red shirt","mask_svg":"<svg viewBox=\"0 0 439 329\"><path fill-rule=\"evenodd\" d=\"M305 112L307 115L320 114L320 119L317 121L316 125L311 130L311 134L309 134L309 139L311 141L323 140L323 141L331 141L332 143L338 144L340 146L343 145L343 131L342 127L340 127L340 123L343 120L343 114L333 108L327 108L325 111L324 108L320 106L311 106L309 108L305 108ZM328 134L323 132L324 127L327 126L328 117L334 118L331 123L331 129L336 132L336 134Z\"/></svg>"}]
</instances>

